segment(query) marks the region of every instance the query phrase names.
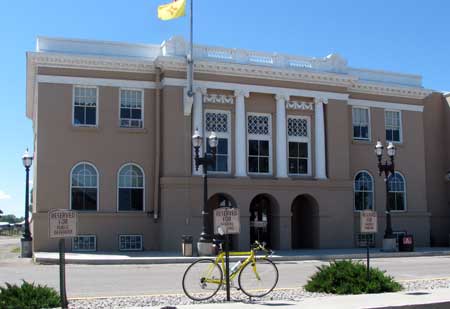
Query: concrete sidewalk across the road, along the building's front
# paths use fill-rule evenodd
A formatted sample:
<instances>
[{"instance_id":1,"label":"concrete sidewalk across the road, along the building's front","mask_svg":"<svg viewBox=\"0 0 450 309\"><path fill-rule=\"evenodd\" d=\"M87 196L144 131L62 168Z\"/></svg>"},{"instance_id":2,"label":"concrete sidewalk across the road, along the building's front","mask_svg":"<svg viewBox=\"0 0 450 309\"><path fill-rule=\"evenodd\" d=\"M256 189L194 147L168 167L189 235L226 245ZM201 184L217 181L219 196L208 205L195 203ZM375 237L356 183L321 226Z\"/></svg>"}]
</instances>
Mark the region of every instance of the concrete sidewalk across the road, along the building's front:
<instances>
[{"instance_id":1,"label":"concrete sidewalk across the road, along the building's front","mask_svg":"<svg viewBox=\"0 0 450 309\"><path fill-rule=\"evenodd\" d=\"M450 248L416 248L414 252L381 252L378 248L372 248L370 256L371 258L450 256ZM66 253L66 263L89 265L192 263L198 258L183 257L180 252L163 251ZM364 259L366 258L366 249L280 250L276 251L271 258L274 261ZM57 252L35 252L33 259L36 263L57 264L59 254ZM231 257L231 261L238 259L240 257Z\"/></svg>"}]
</instances>

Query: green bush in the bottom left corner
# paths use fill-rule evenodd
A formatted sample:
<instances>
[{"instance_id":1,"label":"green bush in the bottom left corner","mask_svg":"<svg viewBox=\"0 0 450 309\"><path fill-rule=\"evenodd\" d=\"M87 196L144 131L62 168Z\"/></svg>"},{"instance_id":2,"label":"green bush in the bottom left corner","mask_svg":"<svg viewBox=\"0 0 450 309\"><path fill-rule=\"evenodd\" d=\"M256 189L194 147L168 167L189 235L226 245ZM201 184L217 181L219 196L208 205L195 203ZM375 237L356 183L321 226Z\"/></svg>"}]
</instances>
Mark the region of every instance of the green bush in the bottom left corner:
<instances>
[{"instance_id":1,"label":"green bush in the bottom left corner","mask_svg":"<svg viewBox=\"0 0 450 309\"><path fill-rule=\"evenodd\" d=\"M52 288L23 281L22 286L6 283L0 287L0 308L55 308L60 307L59 294Z\"/></svg>"}]
</instances>

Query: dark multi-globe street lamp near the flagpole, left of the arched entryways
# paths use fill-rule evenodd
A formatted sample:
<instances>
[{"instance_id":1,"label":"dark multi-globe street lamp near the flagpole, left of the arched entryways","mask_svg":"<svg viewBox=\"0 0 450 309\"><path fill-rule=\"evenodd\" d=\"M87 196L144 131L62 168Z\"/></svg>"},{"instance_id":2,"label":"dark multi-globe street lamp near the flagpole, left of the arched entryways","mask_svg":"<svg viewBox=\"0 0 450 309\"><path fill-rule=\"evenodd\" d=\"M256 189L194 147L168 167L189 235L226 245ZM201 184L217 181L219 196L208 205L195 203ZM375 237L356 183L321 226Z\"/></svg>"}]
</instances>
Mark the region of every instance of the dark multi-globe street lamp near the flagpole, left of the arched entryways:
<instances>
[{"instance_id":1,"label":"dark multi-globe street lamp near the flagpole, left of the arched entryways","mask_svg":"<svg viewBox=\"0 0 450 309\"><path fill-rule=\"evenodd\" d=\"M216 163L216 149L219 142L216 134L211 132L208 137L208 144L211 148L211 155L205 151L203 157L199 156L200 146L202 145L203 137L195 130L194 135L192 135L192 146L195 151L195 170L198 171L200 165L203 166L203 210L202 210L202 232L200 234L200 239L197 243L198 255L212 255L212 237L206 232L206 224L208 220L207 204L208 204L208 165L213 165Z\"/></svg>"}]
</instances>

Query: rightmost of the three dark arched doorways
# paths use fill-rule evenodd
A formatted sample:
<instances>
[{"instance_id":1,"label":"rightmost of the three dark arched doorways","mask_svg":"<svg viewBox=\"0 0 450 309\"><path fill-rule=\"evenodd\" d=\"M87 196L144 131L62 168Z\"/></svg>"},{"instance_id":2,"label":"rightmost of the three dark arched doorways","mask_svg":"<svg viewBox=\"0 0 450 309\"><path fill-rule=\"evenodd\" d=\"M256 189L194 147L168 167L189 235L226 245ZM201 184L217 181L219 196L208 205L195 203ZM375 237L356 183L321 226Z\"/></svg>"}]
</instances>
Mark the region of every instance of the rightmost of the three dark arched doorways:
<instances>
[{"instance_id":1,"label":"rightmost of the three dark arched doorways","mask_svg":"<svg viewBox=\"0 0 450 309\"><path fill-rule=\"evenodd\" d=\"M319 205L310 195L297 196L291 207L292 249L319 247Z\"/></svg>"}]
</instances>

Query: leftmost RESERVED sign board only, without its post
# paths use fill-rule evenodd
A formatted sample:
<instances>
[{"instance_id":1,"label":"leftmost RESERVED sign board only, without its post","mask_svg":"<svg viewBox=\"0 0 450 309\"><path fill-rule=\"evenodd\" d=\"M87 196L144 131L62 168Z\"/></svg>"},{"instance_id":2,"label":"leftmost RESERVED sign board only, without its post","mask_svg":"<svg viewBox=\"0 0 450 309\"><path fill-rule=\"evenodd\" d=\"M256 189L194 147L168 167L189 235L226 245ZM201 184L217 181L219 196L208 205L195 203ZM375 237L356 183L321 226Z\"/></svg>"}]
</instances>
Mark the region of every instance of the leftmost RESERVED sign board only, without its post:
<instances>
[{"instance_id":1,"label":"leftmost RESERVED sign board only, without its post","mask_svg":"<svg viewBox=\"0 0 450 309\"><path fill-rule=\"evenodd\" d=\"M48 213L50 238L77 236L77 213L68 209L53 209Z\"/></svg>"}]
</instances>

